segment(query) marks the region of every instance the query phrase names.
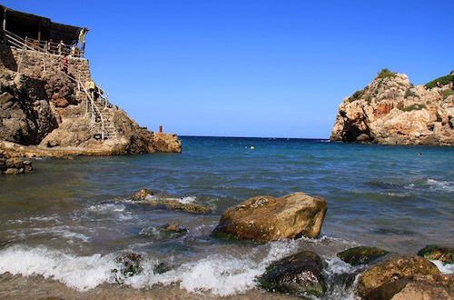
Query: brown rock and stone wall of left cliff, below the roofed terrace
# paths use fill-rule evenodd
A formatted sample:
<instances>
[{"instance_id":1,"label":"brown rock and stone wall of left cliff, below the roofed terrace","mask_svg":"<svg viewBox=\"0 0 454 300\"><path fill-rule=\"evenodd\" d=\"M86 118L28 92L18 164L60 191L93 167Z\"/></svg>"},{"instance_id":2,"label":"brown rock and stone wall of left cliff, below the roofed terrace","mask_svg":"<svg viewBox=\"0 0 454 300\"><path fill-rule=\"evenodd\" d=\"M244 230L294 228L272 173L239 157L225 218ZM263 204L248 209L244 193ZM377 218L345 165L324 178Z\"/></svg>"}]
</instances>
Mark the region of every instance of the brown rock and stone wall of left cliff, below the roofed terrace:
<instances>
[{"instance_id":1,"label":"brown rock and stone wall of left cliff, below the roofed terrace","mask_svg":"<svg viewBox=\"0 0 454 300\"><path fill-rule=\"evenodd\" d=\"M23 54L0 45L0 151L5 155L181 152L176 135L148 131L115 105L91 107L83 89L62 70L62 56ZM81 83L92 80L86 59L68 58L67 73Z\"/></svg>"}]
</instances>

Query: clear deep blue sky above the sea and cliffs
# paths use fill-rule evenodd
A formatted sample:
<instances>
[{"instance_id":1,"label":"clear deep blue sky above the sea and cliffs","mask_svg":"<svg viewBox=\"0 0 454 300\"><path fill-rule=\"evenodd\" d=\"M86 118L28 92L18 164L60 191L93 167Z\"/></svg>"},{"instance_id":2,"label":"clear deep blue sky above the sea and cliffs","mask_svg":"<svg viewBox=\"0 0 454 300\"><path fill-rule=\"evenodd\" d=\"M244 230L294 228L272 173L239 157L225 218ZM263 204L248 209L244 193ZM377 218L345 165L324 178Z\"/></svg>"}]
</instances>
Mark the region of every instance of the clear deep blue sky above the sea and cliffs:
<instances>
[{"instance_id":1,"label":"clear deep blue sky above the sea and cliffs","mask_svg":"<svg viewBox=\"0 0 454 300\"><path fill-rule=\"evenodd\" d=\"M380 68L454 69L454 1L162 0L2 4L88 26L94 81L179 135L321 137Z\"/></svg>"}]
</instances>

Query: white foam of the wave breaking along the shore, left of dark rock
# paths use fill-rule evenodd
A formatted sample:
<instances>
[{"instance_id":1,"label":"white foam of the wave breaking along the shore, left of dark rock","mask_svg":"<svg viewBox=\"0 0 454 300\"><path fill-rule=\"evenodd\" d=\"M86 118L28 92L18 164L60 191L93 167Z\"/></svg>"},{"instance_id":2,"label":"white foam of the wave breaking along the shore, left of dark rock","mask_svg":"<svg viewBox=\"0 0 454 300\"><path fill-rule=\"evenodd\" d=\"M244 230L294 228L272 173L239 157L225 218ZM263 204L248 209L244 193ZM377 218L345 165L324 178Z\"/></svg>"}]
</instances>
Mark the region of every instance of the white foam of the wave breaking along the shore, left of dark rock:
<instances>
[{"instance_id":1,"label":"white foam of the wave breaking along the shore, left of dark rock","mask_svg":"<svg viewBox=\"0 0 454 300\"><path fill-rule=\"evenodd\" d=\"M149 258L143 263L143 273L125 278L124 284L143 288L178 283L188 292L210 292L220 296L244 293L255 286L255 277L261 275L267 265L291 254L297 242L274 242L267 246L270 249L264 258L260 258L257 251L241 258L210 255L163 274L153 273L157 261ZM119 267L115 257L114 254L68 255L45 247L15 245L0 251L0 274L43 275L84 291L103 283L114 283L112 270Z\"/></svg>"}]
</instances>

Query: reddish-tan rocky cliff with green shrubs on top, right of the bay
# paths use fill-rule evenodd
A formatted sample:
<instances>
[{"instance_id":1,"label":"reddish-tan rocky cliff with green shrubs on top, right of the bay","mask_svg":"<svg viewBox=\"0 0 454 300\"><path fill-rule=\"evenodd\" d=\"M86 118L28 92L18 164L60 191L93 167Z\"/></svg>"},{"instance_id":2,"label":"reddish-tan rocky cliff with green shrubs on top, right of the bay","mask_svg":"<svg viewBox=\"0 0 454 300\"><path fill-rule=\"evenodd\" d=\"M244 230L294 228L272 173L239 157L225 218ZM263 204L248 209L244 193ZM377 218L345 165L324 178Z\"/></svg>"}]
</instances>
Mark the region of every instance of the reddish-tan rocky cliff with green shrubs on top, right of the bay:
<instances>
[{"instance_id":1,"label":"reddish-tan rocky cliff with green shrubs on top, right of the bay","mask_svg":"<svg viewBox=\"0 0 454 300\"><path fill-rule=\"evenodd\" d=\"M454 145L454 74L427 85L383 69L339 106L331 141Z\"/></svg>"}]
</instances>

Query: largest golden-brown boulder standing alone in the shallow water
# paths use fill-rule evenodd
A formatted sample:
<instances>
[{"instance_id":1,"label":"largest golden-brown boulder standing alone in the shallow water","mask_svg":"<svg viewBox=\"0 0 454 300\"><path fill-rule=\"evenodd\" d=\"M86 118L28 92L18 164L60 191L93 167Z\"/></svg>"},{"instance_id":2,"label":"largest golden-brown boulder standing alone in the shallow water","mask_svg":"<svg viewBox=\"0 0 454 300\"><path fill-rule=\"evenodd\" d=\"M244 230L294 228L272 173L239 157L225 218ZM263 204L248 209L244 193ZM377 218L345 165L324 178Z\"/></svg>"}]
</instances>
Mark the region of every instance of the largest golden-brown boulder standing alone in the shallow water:
<instances>
[{"instance_id":1,"label":"largest golden-brown boulder standing alone in the shallow water","mask_svg":"<svg viewBox=\"0 0 454 300\"><path fill-rule=\"evenodd\" d=\"M320 235L326 202L319 196L294 193L281 198L252 197L222 214L214 232L263 243Z\"/></svg>"}]
</instances>

